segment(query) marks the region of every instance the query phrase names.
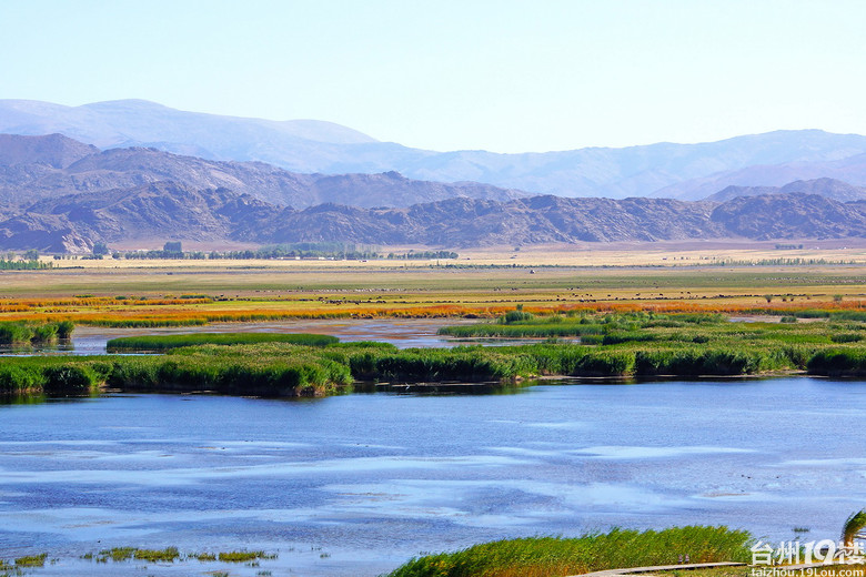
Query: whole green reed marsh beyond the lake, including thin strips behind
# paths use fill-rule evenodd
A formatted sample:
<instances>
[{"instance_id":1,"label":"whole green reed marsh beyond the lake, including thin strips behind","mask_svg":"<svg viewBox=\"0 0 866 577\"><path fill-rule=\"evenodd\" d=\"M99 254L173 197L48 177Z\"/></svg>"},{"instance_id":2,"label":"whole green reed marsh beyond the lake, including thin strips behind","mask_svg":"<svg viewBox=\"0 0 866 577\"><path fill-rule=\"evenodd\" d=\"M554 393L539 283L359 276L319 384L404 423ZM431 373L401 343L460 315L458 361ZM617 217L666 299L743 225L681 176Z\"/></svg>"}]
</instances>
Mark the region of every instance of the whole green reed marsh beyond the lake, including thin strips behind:
<instances>
[{"instance_id":1,"label":"whole green reed marsh beyond the lake, including thin strips behind","mask_svg":"<svg viewBox=\"0 0 866 577\"><path fill-rule=\"evenodd\" d=\"M293 397L348 392L354 381L514 383L546 375L677 377L791 371L866 376L866 323L857 321L729 323L718 315L651 313L557 320L521 312L496 326L507 323L530 327L572 323L595 333L583 335L580 344L548 340L501 347L410 350L278 333L130 337L114 340L110 347L162 354L3 358L0 394L89 395L109 387Z\"/></svg>"}]
</instances>

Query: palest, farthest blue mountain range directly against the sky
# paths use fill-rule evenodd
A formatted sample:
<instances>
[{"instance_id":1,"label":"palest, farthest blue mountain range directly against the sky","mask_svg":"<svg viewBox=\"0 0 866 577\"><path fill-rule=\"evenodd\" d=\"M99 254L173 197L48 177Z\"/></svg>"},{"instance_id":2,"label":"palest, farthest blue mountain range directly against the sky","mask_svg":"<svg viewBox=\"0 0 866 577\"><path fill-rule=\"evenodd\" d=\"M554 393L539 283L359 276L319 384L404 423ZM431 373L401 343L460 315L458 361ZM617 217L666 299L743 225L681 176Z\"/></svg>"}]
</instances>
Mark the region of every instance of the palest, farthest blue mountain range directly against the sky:
<instances>
[{"instance_id":1,"label":"palest, farthest blue mountain range directly against the sky","mask_svg":"<svg viewBox=\"0 0 866 577\"><path fill-rule=\"evenodd\" d=\"M101 149L152 146L208 160L261 161L301 173L397 171L423 181L474 181L562 196L697 200L728 185L781 186L819 178L866 185L866 136L818 130L702 144L524 154L434 152L379 142L319 121L219 117L141 100L82 107L0 100L0 132L58 132Z\"/></svg>"}]
</instances>

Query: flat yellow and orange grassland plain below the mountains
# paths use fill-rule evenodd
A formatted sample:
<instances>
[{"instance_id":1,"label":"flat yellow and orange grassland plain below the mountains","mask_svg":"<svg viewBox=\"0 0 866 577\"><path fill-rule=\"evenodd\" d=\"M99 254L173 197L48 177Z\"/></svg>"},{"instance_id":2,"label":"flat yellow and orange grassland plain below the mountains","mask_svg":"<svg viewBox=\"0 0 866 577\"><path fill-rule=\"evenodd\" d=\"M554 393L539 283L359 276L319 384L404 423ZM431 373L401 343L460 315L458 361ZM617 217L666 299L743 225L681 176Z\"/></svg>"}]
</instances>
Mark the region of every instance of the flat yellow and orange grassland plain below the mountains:
<instances>
[{"instance_id":1,"label":"flat yellow and orange grassland plain below the mountains","mask_svg":"<svg viewBox=\"0 0 866 577\"><path fill-rule=\"evenodd\" d=\"M53 261L52 270L0 272L0 320L167 324L493 316L518 304L537 312L585 307L757 314L768 307L862 308L866 303L866 264L859 264L866 263L866 247L714 245L711 253L708 246L677 251L667 243L603 249L479 250L441 262ZM779 257L858 264L713 265L716 259Z\"/></svg>"}]
</instances>

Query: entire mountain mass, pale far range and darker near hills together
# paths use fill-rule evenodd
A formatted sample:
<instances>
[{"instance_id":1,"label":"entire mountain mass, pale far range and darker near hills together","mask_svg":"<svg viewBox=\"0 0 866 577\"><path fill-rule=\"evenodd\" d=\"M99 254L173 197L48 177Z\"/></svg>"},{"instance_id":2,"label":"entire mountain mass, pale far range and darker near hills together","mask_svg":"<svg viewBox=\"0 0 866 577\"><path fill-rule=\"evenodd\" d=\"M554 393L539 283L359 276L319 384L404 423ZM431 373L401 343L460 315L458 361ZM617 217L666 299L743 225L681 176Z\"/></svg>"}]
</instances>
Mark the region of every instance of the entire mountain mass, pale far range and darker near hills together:
<instances>
[{"instance_id":1,"label":"entire mountain mass, pale far range and darker near hills together","mask_svg":"<svg viewBox=\"0 0 866 577\"><path fill-rule=\"evenodd\" d=\"M0 134L0 249L7 250L84 253L98 242L155 247L169 240L214 246L338 241L463 247L866 236L866 153L860 151L866 138L858 135L799 131L534 155L433 153L380 143L329 123L191 114L142 101L72 109L2 101L0 125L7 124L22 132L64 126L67 133L113 146L101 150L60 133ZM121 140L152 146L118 146ZM494 172L502 180L533 174L550 183L571 174L573 191L582 183L620 192L640 183L674 184L661 192L642 188L651 194L626 199L533 195L532 190L487 183L413 180L394 171L293 172L261 161L213 160L158 146L195 148L210 156L274 154L279 149L305 163L331 166L334 159L355 165L374 158L384 162L387 151L399 150L389 158L414 154L424 161L414 166L422 172L436 165L454 170L460 164L452 162L454 155L465 160L476 154L487 164L471 163L473 170L493 171L491 159L497 159ZM748 164L756 159L787 160ZM702 172L735 164L745 168ZM689 180L698 173L703 175ZM796 174L814 178L774 184ZM833 178L839 174L846 180ZM722 186L732 179L745 184ZM657 198L664 191L704 200Z\"/></svg>"}]
</instances>

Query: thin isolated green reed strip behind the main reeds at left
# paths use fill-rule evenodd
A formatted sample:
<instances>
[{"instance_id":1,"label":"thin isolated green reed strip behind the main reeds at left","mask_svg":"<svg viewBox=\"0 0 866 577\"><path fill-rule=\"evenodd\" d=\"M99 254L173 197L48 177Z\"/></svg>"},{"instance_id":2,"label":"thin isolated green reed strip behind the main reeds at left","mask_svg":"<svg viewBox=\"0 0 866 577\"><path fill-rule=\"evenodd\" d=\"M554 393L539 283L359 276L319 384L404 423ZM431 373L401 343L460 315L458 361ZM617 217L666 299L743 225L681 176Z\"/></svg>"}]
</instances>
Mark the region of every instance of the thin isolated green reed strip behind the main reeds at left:
<instances>
[{"instance_id":1,"label":"thin isolated green reed strip behind the main reeds at left","mask_svg":"<svg viewBox=\"0 0 866 577\"><path fill-rule=\"evenodd\" d=\"M330 335L282 333L192 333L187 335L124 336L108 342L108 351L165 351L197 345L252 345L289 343L305 346L326 346L340 340Z\"/></svg>"}]
</instances>

